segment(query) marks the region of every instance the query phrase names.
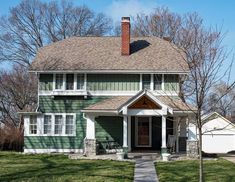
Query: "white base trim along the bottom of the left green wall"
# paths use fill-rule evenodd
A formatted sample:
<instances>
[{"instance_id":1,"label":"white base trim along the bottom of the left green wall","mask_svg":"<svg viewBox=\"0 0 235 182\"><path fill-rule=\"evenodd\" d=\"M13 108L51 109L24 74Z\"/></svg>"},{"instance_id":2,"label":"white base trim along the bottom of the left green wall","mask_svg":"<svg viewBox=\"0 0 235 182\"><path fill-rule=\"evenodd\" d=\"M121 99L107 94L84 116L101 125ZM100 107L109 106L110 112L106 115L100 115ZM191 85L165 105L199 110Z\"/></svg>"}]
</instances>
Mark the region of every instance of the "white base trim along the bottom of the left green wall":
<instances>
[{"instance_id":1,"label":"white base trim along the bottom of the left green wall","mask_svg":"<svg viewBox=\"0 0 235 182\"><path fill-rule=\"evenodd\" d=\"M83 149L24 149L24 153L83 153Z\"/></svg>"}]
</instances>

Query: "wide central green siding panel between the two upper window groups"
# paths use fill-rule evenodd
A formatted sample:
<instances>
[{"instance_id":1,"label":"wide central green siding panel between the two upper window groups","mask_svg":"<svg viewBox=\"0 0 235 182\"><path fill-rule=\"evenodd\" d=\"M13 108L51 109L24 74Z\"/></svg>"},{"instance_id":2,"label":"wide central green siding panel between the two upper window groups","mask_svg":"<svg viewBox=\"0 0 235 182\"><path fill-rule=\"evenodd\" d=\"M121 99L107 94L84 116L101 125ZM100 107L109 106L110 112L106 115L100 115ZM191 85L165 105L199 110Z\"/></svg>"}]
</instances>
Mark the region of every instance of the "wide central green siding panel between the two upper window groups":
<instances>
[{"instance_id":1,"label":"wide central green siding panel between the two upper window groups","mask_svg":"<svg viewBox=\"0 0 235 182\"><path fill-rule=\"evenodd\" d=\"M133 74L89 74L87 89L98 91L138 91L139 75Z\"/></svg>"}]
</instances>

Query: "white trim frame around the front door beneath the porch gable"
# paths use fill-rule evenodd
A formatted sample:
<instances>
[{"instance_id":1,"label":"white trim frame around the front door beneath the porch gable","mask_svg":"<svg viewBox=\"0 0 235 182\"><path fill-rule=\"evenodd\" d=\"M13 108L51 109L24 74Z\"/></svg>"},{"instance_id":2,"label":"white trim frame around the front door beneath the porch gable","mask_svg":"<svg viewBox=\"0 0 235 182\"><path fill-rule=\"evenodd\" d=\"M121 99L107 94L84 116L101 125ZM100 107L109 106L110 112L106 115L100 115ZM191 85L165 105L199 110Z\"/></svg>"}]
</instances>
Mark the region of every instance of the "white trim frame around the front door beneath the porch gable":
<instances>
[{"instance_id":1,"label":"white trim frame around the front door beneath the porch gable","mask_svg":"<svg viewBox=\"0 0 235 182\"><path fill-rule=\"evenodd\" d=\"M149 145L139 145L138 144L138 123L140 117L135 117L135 147L152 147L152 117L141 116L145 118L149 118Z\"/></svg>"}]
</instances>

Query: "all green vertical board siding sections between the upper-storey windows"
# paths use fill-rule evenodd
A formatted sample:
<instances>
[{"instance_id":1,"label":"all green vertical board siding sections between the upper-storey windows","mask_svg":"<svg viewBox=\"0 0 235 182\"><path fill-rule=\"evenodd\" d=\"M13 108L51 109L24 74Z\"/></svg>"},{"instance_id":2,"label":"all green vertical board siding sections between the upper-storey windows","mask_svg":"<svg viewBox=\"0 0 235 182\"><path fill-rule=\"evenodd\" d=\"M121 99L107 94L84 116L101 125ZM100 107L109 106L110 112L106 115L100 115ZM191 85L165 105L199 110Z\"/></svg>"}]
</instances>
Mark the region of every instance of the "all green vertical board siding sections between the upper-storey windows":
<instances>
[{"instance_id":1,"label":"all green vertical board siding sections between the upper-storey windows","mask_svg":"<svg viewBox=\"0 0 235 182\"><path fill-rule=\"evenodd\" d=\"M53 90L53 74L39 75L39 90ZM139 91L139 74L87 74L88 91ZM179 91L179 75L164 75L164 90Z\"/></svg>"}]
</instances>

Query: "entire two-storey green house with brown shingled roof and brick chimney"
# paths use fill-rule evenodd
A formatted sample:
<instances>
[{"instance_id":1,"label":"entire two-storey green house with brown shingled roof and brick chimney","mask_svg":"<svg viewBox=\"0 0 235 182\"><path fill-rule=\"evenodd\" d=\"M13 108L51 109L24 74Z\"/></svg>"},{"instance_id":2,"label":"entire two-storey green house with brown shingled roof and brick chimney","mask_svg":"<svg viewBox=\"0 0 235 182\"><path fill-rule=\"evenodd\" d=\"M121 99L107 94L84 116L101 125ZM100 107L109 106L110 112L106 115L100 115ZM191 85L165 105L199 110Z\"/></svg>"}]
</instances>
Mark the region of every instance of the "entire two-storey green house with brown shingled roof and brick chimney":
<instances>
[{"instance_id":1,"label":"entire two-storey green house with brown shingled roof and brick chimney","mask_svg":"<svg viewBox=\"0 0 235 182\"><path fill-rule=\"evenodd\" d=\"M195 152L193 107L179 97L185 54L157 37L71 37L39 49L38 107L24 116L24 152Z\"/></svg>"}]
</instances>

